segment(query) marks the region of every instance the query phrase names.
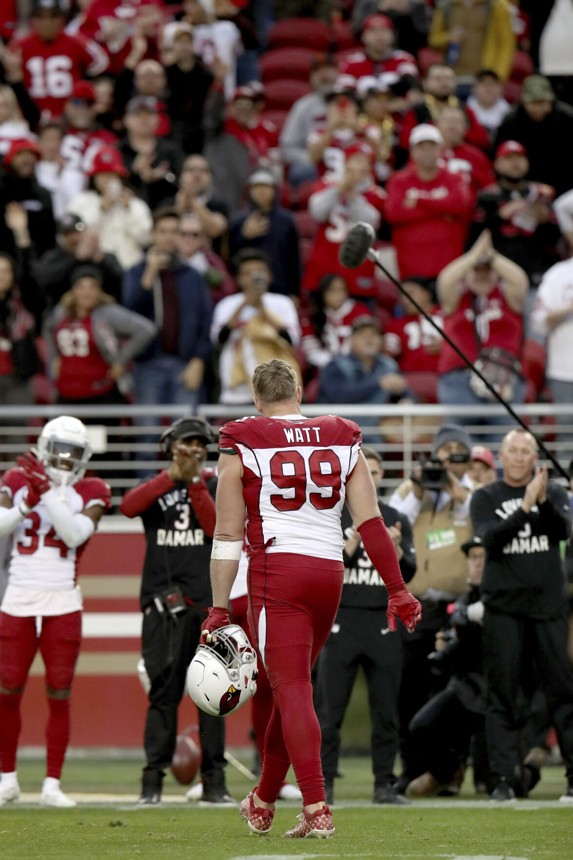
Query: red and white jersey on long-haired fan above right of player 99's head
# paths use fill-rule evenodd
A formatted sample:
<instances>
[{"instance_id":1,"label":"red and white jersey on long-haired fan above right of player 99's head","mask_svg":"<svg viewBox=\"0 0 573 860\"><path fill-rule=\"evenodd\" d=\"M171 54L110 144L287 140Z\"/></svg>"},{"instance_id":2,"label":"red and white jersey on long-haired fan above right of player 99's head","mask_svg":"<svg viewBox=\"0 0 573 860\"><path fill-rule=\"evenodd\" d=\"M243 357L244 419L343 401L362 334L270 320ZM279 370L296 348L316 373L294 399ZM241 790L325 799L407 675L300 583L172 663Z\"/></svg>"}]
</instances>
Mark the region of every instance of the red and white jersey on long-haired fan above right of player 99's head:
<instances>
[{"instance_id":1,"label":"red and white jersey on long-haired fan above right of player 99's head","mask_svg":"<svg viewBox=\"0 0 573 860\"><path fill-rule=\"evenodd\" d=\"M347 298L338 310L325 308L324 316L326 316L326 322L321 340L318 340L309 316L302 316L300 320L302 328L300 346L311 364L318 367L328 364L335 355L350 352L352 323L360 316L372 316L372 311L366 304L357 302L354 298Z\"/></svg>"}]
</instances>

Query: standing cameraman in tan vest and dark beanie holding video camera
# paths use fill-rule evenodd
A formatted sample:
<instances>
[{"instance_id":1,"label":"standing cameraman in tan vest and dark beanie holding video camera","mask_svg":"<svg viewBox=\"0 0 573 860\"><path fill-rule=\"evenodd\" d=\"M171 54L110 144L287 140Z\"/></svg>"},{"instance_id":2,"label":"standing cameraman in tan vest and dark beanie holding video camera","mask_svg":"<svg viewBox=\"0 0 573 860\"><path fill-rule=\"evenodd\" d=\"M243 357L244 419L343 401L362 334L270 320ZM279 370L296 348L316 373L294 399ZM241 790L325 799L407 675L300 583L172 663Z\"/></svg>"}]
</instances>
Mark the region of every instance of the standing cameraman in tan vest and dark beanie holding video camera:
<instances>
[{"instance_id":1,"label":"standing cameraman in tan vest and dark beanie holding video camera","mask_svg":"<svg viewBox=\"0 0 573 860\"><path fill-rule=\"evenodd\" d=\"M404 667L400 691L400 750L404 772L398 790L427 770L423 751L410 739L408 726L433 692L428 654L435 635L447 627L447 605L467 590L462 544L472 534L470 501L474 484L467 476L471 440L463 427L444 424L434 436L432 460L444 467L438 481L417 466L410 480L392 494L389 504L410 519L416 550L416 574L410 582L422 602L422 624L413 636L404 636ZM428 488L434 484L439 488Z\"/></svg>"}]
</instances>

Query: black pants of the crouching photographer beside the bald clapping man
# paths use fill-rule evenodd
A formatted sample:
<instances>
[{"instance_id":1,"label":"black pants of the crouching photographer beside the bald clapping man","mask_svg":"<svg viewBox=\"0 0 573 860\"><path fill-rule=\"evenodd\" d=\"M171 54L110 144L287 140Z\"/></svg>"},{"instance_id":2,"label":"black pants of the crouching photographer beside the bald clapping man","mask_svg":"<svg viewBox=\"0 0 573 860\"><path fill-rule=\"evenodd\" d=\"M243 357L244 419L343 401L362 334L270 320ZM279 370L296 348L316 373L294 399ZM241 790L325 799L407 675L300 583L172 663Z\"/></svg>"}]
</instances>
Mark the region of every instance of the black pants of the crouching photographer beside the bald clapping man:
<instances>
[{"instance_id":1,"label":"black pants of the crouching photographer beside the bald clapping man","mask_svg":"<svg viewBox=\"0 0 573 860\"><path fill-rule=\"evenodd\" d=\"M426 750L428 771L439 783L450 783L470 751L471 736L484 733L484 716L465 708L447 688L431 698L410 722L410 734Z\"/></svg>"}]
</instances>

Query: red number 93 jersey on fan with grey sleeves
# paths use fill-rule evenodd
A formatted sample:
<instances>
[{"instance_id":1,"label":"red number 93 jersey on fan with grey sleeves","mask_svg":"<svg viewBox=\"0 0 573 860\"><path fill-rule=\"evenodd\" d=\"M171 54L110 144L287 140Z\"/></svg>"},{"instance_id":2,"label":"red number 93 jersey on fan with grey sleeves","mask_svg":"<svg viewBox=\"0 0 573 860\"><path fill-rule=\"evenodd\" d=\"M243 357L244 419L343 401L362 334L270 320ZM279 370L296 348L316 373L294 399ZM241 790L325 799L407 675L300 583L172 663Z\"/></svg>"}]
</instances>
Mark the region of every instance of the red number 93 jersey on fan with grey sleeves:
<instances>
[{"instance_id":1,"label":"red number 93 jersey on fan with grey sleeves","mask_svg":"<svg viewBox=\"0 0 573 860\"><path fill-rule=\"evenodd\" d=\"M54 335L61 359L56 382L61 396L83 400L113 389L114 380L108 377L108 362L95 343L90 316L83 320L67 316Z\"/></svg>"}]
</instances>

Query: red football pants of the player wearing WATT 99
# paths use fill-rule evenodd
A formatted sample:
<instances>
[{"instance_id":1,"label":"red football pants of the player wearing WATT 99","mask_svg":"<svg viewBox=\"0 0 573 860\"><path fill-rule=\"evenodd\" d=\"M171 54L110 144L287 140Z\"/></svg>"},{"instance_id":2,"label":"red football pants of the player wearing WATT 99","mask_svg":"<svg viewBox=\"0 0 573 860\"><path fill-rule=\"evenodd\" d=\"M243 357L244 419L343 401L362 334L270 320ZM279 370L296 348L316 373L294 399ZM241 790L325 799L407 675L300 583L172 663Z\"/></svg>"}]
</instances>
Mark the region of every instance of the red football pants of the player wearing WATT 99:
<instances>
[{"instance_id":1,"label":"red football pants of the player wearing WATT 99","mask_svg":"<svg viewBox=\"0 0 573 860\"><path fill-rule=\"evenodd\" d=\"M273 690L311 679L342 594L344 565L294 553L261 553L249 563L251 641Z\"/></svg>"}]
</instances>

